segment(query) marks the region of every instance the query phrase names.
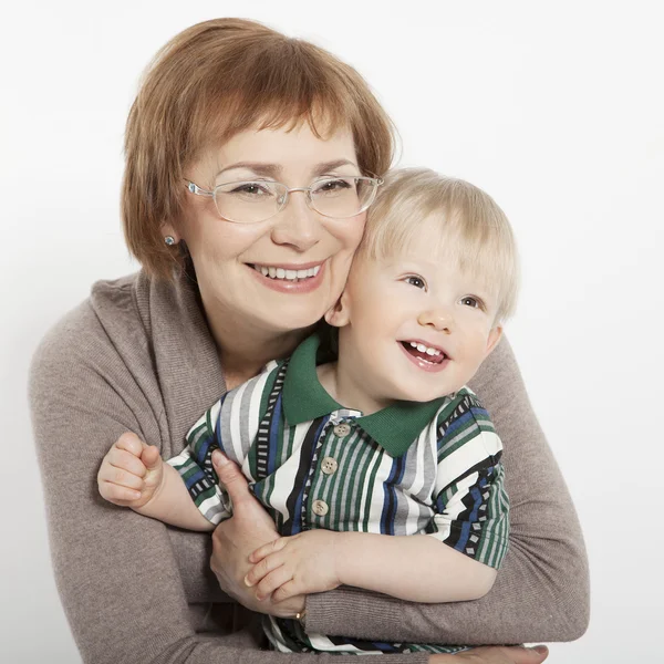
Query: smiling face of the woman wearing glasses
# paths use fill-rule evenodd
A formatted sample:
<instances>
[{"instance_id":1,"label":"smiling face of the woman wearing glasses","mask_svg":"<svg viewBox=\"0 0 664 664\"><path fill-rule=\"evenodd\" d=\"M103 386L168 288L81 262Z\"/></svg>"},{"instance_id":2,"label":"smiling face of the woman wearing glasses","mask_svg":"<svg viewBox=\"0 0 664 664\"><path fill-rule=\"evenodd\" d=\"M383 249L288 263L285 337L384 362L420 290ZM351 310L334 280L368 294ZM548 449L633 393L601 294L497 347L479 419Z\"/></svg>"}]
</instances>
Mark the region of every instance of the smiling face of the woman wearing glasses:
<instances>
[{"instance_id":1,"label":"smiling face of the woman wearing glasses","mask_svg":"<svg viewBox=\"0 0 664 664\"><path fill-rule=\"evenodd\" d=\"M237 134L205 154L186 176L211 190L260 179L308 187L321 176L360 174L350 131L322 139L302 123L290 132ZM230 324L236 333L247 326L263 333L297 330L312 325L336 301L365 212L350 219L323 217L309 208L305 193L293 191L272 218L237 224L221 219L211 198L187 196L179 237L191 253L212 326ZM288 279L293 270L300 271L298 279Z\"/></svg>"}]
</instances>

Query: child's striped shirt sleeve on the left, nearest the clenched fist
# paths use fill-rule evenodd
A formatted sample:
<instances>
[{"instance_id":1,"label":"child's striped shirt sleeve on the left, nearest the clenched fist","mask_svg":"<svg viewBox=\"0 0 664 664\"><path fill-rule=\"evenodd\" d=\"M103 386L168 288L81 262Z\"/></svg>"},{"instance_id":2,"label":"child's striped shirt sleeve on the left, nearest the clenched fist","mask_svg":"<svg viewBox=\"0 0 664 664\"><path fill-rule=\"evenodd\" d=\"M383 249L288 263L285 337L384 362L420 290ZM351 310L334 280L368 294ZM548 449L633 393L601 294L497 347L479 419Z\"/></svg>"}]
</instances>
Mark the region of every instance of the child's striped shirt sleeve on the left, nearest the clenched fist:
<instances>
[{"instance_id":1,"label":"child's striped shirt sleeve on the left, nearest the clenched fist","mask_svg":"<svg viewBox=\"0 0 664 664\"><path fill-rule=\"evenodd\" d=\"M200 513L215 526L232 517L228 494L212 467L212 452L219 449L216 430L224 398L199 417L187 434L185 449L167 461L179 473Z\"/></svg>"}]
</instances>

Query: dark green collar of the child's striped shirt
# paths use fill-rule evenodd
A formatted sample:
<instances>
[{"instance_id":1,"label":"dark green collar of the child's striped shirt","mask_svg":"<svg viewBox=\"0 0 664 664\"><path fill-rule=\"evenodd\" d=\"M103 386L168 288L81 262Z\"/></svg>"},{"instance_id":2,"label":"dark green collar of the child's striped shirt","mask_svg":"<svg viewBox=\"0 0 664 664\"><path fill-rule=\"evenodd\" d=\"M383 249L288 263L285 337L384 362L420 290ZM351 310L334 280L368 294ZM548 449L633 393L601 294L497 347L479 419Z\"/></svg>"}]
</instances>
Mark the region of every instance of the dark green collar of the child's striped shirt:
<instances>
[{"instance_id":1,"label":"dark green collar of the child's striped shirt","mask_svg":"<svg viewBox=\"0 0 664 664\"><path fill-rule=\"evenodd\" d=\"M320 335L308 336L293 352L283 381L283 413L290 426L344 408L321 385L315 371ZM371 415L355 418L385 452L402 456L434 418L445 397L418 403L398 401Z\"/></svg>"}]
</instances>

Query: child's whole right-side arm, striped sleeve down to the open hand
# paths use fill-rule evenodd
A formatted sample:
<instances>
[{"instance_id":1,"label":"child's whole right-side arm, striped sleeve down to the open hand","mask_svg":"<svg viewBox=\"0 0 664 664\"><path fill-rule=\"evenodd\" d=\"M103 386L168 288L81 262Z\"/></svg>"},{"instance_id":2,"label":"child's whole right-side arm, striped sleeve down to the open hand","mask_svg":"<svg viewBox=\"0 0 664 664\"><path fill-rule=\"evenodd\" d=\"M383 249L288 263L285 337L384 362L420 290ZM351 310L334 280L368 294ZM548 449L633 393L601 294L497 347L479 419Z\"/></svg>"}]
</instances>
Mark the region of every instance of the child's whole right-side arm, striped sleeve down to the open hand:
<instances>
[{"instance_id":1,"label":"child's whole right-side arm, striped sleeve down to the open hand","mask_svg":"<svg viewBox=\"0 0 664 664\"><path fill-rule=\"evenodd\" d=\"M257 595L274 592L272 600L280 601L345 583L415 602L484 596L508 543L502 445L487 412L467 391L439 413L440 421L428 535L310 530L282 538L250 558L255 567L246 582L258 584Z\"/></svg>"}]
</instances>

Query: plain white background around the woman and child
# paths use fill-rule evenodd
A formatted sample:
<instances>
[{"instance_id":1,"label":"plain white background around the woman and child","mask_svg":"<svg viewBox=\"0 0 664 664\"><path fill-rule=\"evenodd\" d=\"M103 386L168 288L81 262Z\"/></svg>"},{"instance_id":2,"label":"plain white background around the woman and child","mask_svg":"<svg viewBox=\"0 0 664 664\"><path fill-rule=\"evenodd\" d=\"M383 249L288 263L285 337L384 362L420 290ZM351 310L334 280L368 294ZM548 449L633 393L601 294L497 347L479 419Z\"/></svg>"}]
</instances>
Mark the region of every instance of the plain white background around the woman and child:
<instances>
[{"instance_id":1,"label":"plain white background around the woman and child","mask_svg":"<svg viewBox=\"0 0 664 664\"><path fill-rule=\"evenodd\" d=\"M9 4L9 3L7 3ZM402 165L488 190L523 257L508 329L577 501L592 622L551 662L662 661L664 39L658 2L13 2L0 10L0 660L75 663L52 579L25 374L91 283L133 271L124 120L149 58L219 15L355 65Z\"/></svg>"}]
</instances>

